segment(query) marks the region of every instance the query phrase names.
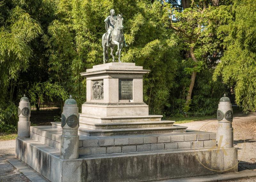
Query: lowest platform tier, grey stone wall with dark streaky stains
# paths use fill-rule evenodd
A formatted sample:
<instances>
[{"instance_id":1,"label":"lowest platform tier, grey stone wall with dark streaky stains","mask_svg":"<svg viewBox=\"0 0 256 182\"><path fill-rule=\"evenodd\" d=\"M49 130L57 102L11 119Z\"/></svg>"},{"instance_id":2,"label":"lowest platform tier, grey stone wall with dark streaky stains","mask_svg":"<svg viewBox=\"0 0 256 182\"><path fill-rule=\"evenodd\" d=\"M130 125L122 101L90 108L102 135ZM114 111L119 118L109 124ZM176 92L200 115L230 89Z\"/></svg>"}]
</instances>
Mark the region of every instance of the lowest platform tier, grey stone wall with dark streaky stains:
<instances>
[{"instance_id":1,"label":"lowest platform tier, grey stone wall with dark streaky stains","mask_svg":"<svg viewBox=\"0 0 256 182\"><path fill-rule=\"evenodd\" d=\"M54 182L156 181L237 171L236 148L80 155L62 160L58 149L31 138L16 138L16 157Z\"/></svg>"}]
</instances>

